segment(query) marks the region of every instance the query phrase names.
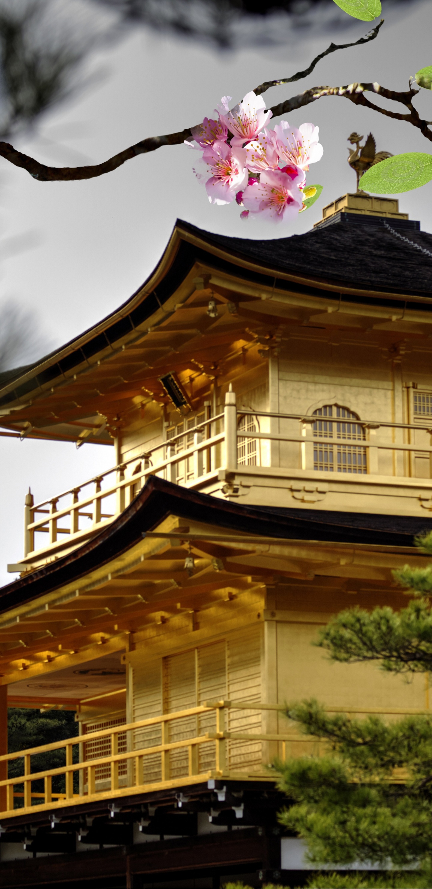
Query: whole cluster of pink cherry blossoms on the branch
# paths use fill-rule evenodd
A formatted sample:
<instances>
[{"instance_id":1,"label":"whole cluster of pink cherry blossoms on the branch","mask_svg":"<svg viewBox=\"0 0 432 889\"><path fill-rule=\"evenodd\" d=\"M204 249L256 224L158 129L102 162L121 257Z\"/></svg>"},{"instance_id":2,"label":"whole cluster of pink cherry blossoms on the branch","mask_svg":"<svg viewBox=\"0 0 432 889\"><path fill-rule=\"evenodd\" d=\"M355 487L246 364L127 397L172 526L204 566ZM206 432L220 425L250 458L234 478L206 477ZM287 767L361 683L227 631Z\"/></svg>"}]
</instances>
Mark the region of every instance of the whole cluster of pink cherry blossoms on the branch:
<instances>
[{"instance_id":1,"label":"whole cluster of pink cherry blossoms on the branch","mask_svg":"<svg viewBox=\"0 0 432 889\"><path fill-rule=\"evenodd\" d=\"M282 120L268 130L272 113L260 96L248 92L232 111L230 100L224 96L214 119L204 117L186 140L188 148L203 151L194 167L197 179L211 204L236 200L244 206L242 219L260 213L275 222L291 220L305 209L305 198L316 193L305 186L309 164L323 155L318 127L301 124L296 129Z\"/></svg>"}]
</instances>

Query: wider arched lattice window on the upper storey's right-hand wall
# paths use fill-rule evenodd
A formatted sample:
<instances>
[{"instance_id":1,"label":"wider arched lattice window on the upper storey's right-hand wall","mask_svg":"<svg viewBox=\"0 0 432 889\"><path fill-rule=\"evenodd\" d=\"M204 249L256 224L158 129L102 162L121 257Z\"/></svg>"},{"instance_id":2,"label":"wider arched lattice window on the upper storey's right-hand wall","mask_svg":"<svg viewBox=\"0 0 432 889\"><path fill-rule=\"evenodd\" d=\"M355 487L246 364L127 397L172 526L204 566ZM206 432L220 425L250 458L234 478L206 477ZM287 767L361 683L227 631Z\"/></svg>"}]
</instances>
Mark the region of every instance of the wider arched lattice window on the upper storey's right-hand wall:
<instances>
[{"instance_id":1,"label":"wider arched lattice window on the upper storey's right-hand wall","mask_svg":"<svg viewBox=\"0 0 432 889\"><path fill-rule=\"evenodd\" d=\"M356 413L337 404L324 404L313 412L315 438L333 438L334 445L314 445L314 469L327 472L352 472L364 475L367 472L366 448L361 445L339 445L338 438L345 441L364 441L364 427L358 422Z\"/></svg>"}]
</instances>

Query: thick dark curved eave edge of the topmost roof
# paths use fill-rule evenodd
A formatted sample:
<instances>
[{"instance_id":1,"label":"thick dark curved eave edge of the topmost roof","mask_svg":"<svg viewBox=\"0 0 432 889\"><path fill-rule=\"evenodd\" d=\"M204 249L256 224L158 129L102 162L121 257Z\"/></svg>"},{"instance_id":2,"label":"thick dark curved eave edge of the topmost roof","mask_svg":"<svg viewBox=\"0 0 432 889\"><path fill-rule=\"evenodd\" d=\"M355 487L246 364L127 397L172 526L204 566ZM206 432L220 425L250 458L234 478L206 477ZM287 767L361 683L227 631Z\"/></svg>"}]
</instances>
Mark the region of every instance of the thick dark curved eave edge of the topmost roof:
<instances>
[{"instance_id":1,"label":"thick dark curved eave edge of the topmost roof","mask_svg":"<svg viewBox=\"0 0 432 889\"><path fill-rule=\"evenodd\" d=\"M235 240L235 239L233 239ZM93 325L62 348L44 356L19 376L0 384L0 417L2 408L8 412L13 404L25 405L31 393L43 392L59 380L70 379L79 365L96 364L100 356L107 357L132 343L148 327L156 326L164 317L164 305L179 289L194 266L223 272L236 281L254 284L269 292L296 292L305 297L341 296L360 304L396 306L432 310L432 294L389 291L372 287L354 287L343 280L290 272L277 263L253 260L250 256L217 243L211 233L177 220L172 236L154 272L129 300L110 313L99 324ZM277 281L277 285L276 285ZM54 381L56 382L54 383Z\"/></svg>"}]
</instances>

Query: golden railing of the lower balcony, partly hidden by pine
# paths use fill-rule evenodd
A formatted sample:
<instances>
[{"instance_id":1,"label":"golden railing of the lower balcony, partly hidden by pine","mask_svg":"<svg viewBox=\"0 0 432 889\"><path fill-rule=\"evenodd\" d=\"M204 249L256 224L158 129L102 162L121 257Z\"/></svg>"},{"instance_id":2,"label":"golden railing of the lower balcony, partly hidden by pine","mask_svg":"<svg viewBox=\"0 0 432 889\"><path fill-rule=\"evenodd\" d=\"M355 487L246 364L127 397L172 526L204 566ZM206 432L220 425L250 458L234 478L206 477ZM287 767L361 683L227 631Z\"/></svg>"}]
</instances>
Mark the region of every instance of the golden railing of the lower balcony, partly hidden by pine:
<instances>
[{"instance_id":1,"label":"golden railing of the lower balcony, partly hidden by pine","mask_svg":"<svg viewBox=\"0 0 432 889\"><path fill-rule=\"evenodd\" d=\"M278 714L284 714L285 710L283 704L205 701L201 707L4 754L0 757L0 777L3 778L0 780L0 819L4 821L30 812L52 812L94 801L108 803L113 798L212 779L276 781L271 772L274 759L284 762L304 754L320 756L326 749L326 741L297 732L284 718L285 730L279 731ZM420 709L397 708L327 707L326 710L356 717L425 713ZM261 732L262 722L270 722L276 731ZM240 729L243 725L252 731L231 731L232 725ZM171 741L174 734L176 740ZM86 740L96 749L108 747L109 752L99 757L93 757L92 753L86 755ZM76 749L79 761L74 762ZM65 765L32 772L32 757L52 750L65 751ZM16 760L23 761L22 774L5 777L7 764ZM396 770L390 780L401 781L401 776L404 778L401 771ZM61 792L52 790L52 779L57 778L63 782ZM44 782L43 792L34 789L36 781Z\"/></svg>"}]
</instances>

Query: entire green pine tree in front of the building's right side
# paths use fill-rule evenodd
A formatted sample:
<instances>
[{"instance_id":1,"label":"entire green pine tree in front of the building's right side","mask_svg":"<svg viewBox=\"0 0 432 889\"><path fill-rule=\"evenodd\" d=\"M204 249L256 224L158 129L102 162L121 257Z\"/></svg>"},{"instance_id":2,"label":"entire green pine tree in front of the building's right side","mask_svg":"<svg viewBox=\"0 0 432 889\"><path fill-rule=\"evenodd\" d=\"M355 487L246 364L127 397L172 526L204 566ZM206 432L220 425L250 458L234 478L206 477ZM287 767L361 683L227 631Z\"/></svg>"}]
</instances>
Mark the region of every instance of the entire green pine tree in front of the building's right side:
<instances>
[{"instance_id":1,"label":"entire green pine tree in front of the building's right side","mask_svg":"<svg viewBox=\"0 0 432 889\"><path fill-rule=\"evenodd\" d=\"M416 543L432 555L432 533ZM398 613L355 607L337 614L316 643L332 661L376 661L406 675L432 669L432 567L405 565L394 576L411 595L408 605ZM325 741L327 752L275 764L292 801L280 821L305 840L316 869L355 861L382 869L380 875L322 873L309 880L309 889L429 889L432 717L388 724L375 716L329 716L315 700L288 706L286 715L301 732Z\"/></svg>"}]
</instances>

